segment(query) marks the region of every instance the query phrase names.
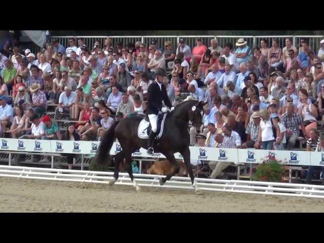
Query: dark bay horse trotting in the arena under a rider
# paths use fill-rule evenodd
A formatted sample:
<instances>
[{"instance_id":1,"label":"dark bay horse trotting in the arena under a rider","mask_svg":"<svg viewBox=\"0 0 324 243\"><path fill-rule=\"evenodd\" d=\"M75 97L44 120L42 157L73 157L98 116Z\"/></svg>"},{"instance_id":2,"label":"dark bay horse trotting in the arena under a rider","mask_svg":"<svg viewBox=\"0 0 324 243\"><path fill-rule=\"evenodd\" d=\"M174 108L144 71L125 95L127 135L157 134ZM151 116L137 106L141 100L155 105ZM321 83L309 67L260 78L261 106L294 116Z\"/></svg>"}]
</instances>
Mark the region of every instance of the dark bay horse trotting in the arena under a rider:
<instances>
[{"instance_id":1,"label":"dark bay horse trotting in the arena under a rider","mask_svg":"<svg viewBox=\"0 0 324 243\"><path fill-rule=\"evenodd\" d=\"M160 152L166 156L174 170L166 178L159 180L160 185L163 185L172 176L179 173L179 165L174 157L174 153L176 152L182 155L191 183L193 184L194 177L190 165L188 122L191 120L196 132L200 132L200 126L202 124L201 111L204 105L204 102L189 100L179 104L172 112L167 114L163 135L160 139L154 141L153 148L154 152ZM118 139L122 148L120 152L114 155L114 180L109 185L113 185L118 179L119 163L124 158L126 160L126 170L132 181L134 179L131 166L132 153L140 147L147 149L147 139L138 137L137 130L141 120L142 118L140 117L127 117L120 121L115 121L101 140L97 154L98 164L102 165L107 163L107 157L115 138Z\"/></svg>"}]
</instances>

